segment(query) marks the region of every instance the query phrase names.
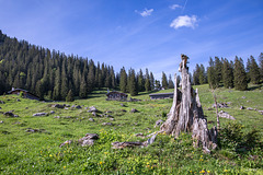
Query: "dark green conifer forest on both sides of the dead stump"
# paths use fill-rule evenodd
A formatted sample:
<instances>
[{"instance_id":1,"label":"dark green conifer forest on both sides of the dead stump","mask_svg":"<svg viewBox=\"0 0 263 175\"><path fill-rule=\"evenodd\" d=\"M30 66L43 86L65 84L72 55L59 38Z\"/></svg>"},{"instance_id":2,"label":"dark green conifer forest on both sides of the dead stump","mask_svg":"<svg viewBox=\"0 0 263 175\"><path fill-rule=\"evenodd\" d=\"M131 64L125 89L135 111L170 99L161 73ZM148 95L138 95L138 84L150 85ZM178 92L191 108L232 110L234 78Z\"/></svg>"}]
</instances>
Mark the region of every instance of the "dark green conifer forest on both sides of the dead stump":
<instances>
[{"instance_id":1,"label":"dark green conifer forest on both sides of the dead stump","mask_svg":"<svg viewBox=\"0 0 263 175\"><path fill-rule=\"evenodd\" d=\"M191 79L194 85L208 83L211 89L225 86L244 91L248 83L263 81L263 52L259 56L259 63L251 56L247 66L238 57L235 61L210 58L207 68L196 65ZM173 89L171 74L168 81L162 72L161 84L164 89ZM72 101L73 96L85 98L101 88L121 90L134 96L160 86L160 81L155 80L148 69L145 74L141 69L136 73L134 69L126 70L124 67L115 72L113 66L105 62L95 63L92 59L66 56L11 38L0 31L0 95L15 88L25 89L41 100Z\"/></svg>"}]
</instances>

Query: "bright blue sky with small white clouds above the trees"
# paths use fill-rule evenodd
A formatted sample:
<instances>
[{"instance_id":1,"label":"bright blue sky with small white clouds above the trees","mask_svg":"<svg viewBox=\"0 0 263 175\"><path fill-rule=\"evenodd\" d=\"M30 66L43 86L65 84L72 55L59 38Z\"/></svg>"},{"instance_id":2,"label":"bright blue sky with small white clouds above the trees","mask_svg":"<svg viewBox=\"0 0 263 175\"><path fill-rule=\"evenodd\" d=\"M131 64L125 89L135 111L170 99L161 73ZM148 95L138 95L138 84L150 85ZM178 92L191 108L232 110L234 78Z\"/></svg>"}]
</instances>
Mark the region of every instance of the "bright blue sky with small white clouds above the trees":
<instances>
[{"instance_id":1,"label":"bright blue sky with small white clouds above the trees","mask_svg":"<svg viewBox=\"0 0 263 175\"><path fill-rule=\"evenodd\" d=\"M247 60L263 52L262 0L0 0L11 37L157 79L178 72L180 55Z\"/></svg>"}]
</instances>

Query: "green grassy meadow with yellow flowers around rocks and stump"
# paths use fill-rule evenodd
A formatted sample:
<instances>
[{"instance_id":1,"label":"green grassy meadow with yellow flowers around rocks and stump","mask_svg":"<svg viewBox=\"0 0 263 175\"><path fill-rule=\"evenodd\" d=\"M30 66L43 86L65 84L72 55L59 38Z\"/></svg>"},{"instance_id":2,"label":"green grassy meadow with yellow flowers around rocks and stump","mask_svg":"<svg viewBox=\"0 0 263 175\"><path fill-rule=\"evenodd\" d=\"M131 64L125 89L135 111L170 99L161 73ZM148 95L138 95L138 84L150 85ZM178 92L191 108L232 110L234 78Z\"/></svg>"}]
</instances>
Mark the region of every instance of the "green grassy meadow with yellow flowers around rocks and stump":
<instances>
[{"instance_id":1,"label":"green grassy meadow with yellow flowers around rocks and stump","mask_svg":"<svg viewBox=\"0 0 263 175\"><path fill-rule=\"evenodd\" d=\"M209 128L216 125L213 94L208 85L198 89L204 113ZM249 132L259 130L263 136L263 115L256 110L240 110L240 106L263 110L262 86L251 86L250 91L217 89L218 102L229 104L222 110L237 120L220 118L221 128L229 126L239 139L249 139ZM165 90L161 92L173 92ZM88 100L58 104L80 105L82 108L53 108L55 102L37 102L16 95L0 96L0 112L14 110L18 118L0 114L0 173L1 174L263 174L262 143L253 145L250 151L238 151L237 139L221 141L221 148L211 154L204 154L201 149L192 147L191 136L183 133L180 138L159 135L153 144L147 148L115 150L114 141L145 141L135 133L158 131L155 124L165 120L172 100L151 101L148 93L136 98L140 102L108 102L106 91L95 91ZM158 92L160 93L160 92ZM20 98L21 102L16 100ZM124 106L121 106L121 103ZM95 106L100 114L113 112L108 117L94 117L85 107ZM136 108L138 113L130 113ZM126 112L123 112L125 109ZM55 114L34 117L35 113ZM60 118L55 118L59 116ZM94 121L90 121L89 118ZM102 122L112 122L103 126ZM27 132L28 128L38 129ZM236 130L235 130L236 129ZM59 148L66 140L78 140L85 133L98 133L100 139L92 147L77 143ZM226 132L225 132L226 133ZM236 135L237 133L237 135ZM222 136L224 137L224 136ZM258 137L258 138L259 138ZM262 141L262 138L260 138ZM242 140L243 141L243 140ZM247 140L248 141L248 140ZM237 141L238 142L238 141Z\"/></svg>"}]
</instances>

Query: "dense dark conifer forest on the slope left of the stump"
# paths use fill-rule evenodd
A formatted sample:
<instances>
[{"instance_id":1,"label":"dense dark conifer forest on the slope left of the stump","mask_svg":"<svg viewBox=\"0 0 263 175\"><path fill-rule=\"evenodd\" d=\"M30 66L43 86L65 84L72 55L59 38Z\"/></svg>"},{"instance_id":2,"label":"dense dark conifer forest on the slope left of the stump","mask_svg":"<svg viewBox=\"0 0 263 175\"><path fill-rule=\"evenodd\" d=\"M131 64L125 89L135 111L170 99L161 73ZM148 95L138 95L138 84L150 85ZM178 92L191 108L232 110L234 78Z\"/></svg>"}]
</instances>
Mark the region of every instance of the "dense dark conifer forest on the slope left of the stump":
<instances>
[{"instance_id":1,"label":"dense dark conifer forest on the slope left of the stump","mask_svg":"<svg viewBox=\"0 0 263 175\"><path fill-rule=\"evenodd\" d=\"M44 97L60 101L72 96L85 98L93 90L108 88L137 95L152 91L155 77L146 69L119 72L92 59L49 50L25 40L8 37L0 31L0 95L11 88L25 89Z\"/></svg>"}]
</instances>

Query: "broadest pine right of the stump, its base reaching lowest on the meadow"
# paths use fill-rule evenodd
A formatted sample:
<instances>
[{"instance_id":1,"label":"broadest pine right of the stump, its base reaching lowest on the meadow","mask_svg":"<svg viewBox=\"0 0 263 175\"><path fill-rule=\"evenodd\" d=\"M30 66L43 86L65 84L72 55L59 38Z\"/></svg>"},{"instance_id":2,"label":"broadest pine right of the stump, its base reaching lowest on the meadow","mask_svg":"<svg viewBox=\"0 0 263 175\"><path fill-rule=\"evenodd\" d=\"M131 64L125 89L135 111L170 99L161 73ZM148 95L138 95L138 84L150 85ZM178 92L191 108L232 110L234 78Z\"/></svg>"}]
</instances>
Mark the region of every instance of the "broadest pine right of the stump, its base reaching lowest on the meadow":
<instances>
[{"instance_id":1,"label":"broadest pine right of the stump, its base reaching lowest on the meadow","mask_svg":"<svg viewBox=\"0 0 263 175\"><path fill-rule=\"evenodd\" d=\"M244 91L248 89L247 74L243 60L236 57L233 68L233 84L236 90Z\"/></svg>"}]
</instances>

